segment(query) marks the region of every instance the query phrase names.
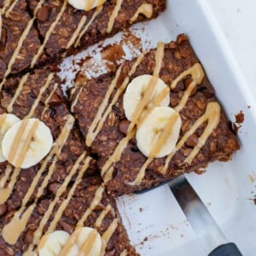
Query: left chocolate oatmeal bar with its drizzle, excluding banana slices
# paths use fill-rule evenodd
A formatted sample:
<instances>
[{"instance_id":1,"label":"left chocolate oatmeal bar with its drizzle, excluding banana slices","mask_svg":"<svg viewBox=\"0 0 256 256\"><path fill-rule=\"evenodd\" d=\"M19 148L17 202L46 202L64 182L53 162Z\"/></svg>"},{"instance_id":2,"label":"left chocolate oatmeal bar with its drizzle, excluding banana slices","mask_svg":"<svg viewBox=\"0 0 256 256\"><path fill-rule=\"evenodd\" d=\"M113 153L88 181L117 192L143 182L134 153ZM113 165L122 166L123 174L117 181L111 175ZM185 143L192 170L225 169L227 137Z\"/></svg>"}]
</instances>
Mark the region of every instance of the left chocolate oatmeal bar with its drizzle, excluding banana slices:
<instances>
[{"instance_id":1,"label":"left chocolate oatmeal bar with its drizzle, excluding banana slices","mask_svg":"<svg viewBox=\"0 0 256 256\"><path fill-rule=\"evenodd\" d=\"M8 79L3 84L0 91L0 114L13 113L20 119L40 119L49 127L54 145L36 166L20 169L7 161L0 163L0 216L21 205L26 206L37 193L37 198L52 193L78 160L79 169L84 161L89 160L60 84L60 79L49 68ZM94 161L89 162L84 176L95 173ZM74 173L74 177L76 175ZM32 186L33 189L29 190Z\"/></svg>"}]
</instances>

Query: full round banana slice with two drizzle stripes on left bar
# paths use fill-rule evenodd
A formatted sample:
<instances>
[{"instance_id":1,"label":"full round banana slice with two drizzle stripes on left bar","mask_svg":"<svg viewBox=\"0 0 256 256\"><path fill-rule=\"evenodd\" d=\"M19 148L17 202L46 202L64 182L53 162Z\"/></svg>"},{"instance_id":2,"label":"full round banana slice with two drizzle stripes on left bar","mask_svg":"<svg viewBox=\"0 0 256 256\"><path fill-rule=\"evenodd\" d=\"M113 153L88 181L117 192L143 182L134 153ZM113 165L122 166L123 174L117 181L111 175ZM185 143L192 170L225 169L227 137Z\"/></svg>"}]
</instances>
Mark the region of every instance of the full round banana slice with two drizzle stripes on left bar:
<instances>
[{"instance_id":1,"label":"full round banana slice with two drizzle stripes on left bar","mask_svg":"<svg viewBox=\"0 0 256 256\"><path fill-rule=\"evenodd\" d=\"M49 153L53 138L48 126L39 119L24 119L4 135L3 156L15 167L35 166Z\"/></svg>"}]
</instances>

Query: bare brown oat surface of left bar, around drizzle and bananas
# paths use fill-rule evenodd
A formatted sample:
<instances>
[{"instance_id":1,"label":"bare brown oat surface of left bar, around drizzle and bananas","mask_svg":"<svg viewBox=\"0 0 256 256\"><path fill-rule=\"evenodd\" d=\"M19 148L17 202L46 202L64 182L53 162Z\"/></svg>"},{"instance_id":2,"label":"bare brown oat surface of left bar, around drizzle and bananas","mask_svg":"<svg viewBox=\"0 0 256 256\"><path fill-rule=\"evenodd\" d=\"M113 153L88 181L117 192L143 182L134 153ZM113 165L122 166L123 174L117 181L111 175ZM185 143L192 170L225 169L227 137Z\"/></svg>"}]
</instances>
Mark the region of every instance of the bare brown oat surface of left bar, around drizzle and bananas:
<instances>
[{"instance_id":1,"label":"bare brown oat surface of left bar, around drizzle and bananas","mask_svg":"<svg viewBox=\"0 0 256 256\"><path fill-rule=\"evenodd\" d=\"M49 79L50 82L47 86L47 80L51 75L52 79ZM54 141L61 135L61 131L63 131L67 124L67 119L72 121L67 142L64 143L61 154L57 157L57 162L54 167L55 171L49 178L49 182L44 189L44 194L47 194L51 193L51 184L56 185L61 183L64 178L67 177L67 174L72 169L76 160L85 152L85 148L84 143L81 141L79 129L73 122L74 118L67 108L66 99L60 88L61 81L55 73L51 72L49 68L45 68L35 70L34 73L29 74L25 80L23 80L24 78L26 78L26 75L21 78L8 79L7 82L3 84L3 88L0 91L0 113L14 113L20 119L24 119L31 112L32 106L36 107L34 113L30 113L30 117L42 120L52 132ZM22 85L22 81L26 82ZM19 91L18 89L20 93L15 95L15 93ZM42 96L40 96L40 94ZM14 101L15 97L16 100ZM37 99L39 100L38 104L36 104ZM14 103L11 108L12 100ZM43 178L48 173L49 166L53 160L54 157L49 160L45 171L40 176L37 187L42 183ZM14 210L16 207L20 207L21 200L24 198L24 195L26 195L33 178L38 173L43 162L44 160L36 166L20 171L20 175L15 182L15 187L8 201L5 203L7 212ZM91 164L93 165L93 161ZM0 163L0 177L3 178L4 173L7 173L8 166L7 162ZM90 170L90 172L92 172L92 170ZM89 174L90 172L87 173ZM14 167L12 167L12 175L14 173ZM5 184L5 187L7 186L8 183ZM0 215L2 214L0 213Z\"/></svg>"}]
</instances>

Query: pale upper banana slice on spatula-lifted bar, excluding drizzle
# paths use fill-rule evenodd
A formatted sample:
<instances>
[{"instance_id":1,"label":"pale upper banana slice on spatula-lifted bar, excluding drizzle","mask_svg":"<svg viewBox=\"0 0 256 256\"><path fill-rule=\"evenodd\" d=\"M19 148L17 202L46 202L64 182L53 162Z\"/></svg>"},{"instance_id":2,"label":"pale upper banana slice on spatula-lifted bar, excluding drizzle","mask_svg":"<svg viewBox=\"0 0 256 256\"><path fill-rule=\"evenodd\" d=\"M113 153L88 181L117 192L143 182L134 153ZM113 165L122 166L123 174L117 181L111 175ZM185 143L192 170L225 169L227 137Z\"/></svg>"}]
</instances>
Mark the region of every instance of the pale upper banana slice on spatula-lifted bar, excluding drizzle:
<instances>
[{"instance_id":1,"label":"pale upper banana slice on spatula-lifted bar, excluding drizzle","mask_svg":"<svg viewBox=\"0 0 256 256\"><path fill-rule=\"evenodd\" d=\"M148 84L152 79L151 75L142 75L139 76L131 81L128 84L127 89L125 90L124 95L124 109L125 109L125 116L128 120L131 121L132 114L137 108L137 104L143 99L143 95L145 94ZM157 96L160 96L160 93L168 88L165 82L161 79L156 80L156 84L154 86L154 92L150 97L150 102L148 103L147 108L151 108L157 99ZM167 94L162 101L160 102L160 106L169 106L170 104L170 96Z\"/></svg>"}]
</instances>

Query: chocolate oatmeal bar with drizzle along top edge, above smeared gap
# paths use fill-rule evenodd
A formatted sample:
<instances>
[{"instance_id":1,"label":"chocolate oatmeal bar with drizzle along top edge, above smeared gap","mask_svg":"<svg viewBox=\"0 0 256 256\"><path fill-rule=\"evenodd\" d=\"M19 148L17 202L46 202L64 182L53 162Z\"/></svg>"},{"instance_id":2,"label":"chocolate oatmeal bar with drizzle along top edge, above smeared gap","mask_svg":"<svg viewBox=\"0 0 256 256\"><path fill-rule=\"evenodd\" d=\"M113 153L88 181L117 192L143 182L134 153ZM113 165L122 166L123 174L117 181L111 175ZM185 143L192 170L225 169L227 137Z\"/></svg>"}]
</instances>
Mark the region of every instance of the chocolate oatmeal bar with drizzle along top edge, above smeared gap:
<instances>
[{"instance_id":1,"label":"chocolate oatmeal bar with drizzle along top edge, above smeared gap","mask_svg":"<svg viewBox=\"0 0 256 256\"><path fill-rule=\"evenodd\" d=\"M0 1L0 79L85 49L137 21L154 18L164 0L106 1L89 11L67 0Z\"/></svg>"}]
</instances>

